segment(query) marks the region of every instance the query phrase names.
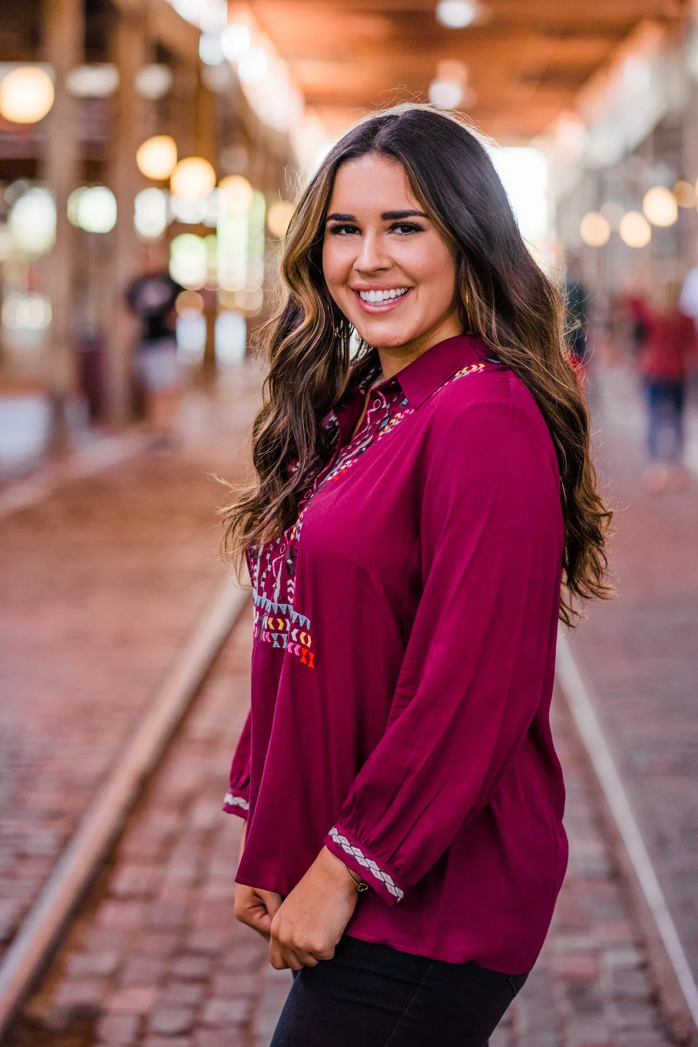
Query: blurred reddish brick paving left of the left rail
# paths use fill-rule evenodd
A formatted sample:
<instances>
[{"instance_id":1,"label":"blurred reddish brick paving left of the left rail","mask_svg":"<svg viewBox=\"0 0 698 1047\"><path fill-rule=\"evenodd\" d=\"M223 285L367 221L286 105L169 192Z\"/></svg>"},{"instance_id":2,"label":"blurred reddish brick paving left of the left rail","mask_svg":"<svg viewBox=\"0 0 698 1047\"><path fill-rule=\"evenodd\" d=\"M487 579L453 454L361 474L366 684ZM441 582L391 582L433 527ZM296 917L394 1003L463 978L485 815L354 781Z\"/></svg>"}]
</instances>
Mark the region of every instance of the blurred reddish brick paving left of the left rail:
<instances>
[{"instance_id":1,"label":"blurred reddish brick paving left of the left rail","mask_svg":"<svg viewBox=\"0 0 698 1047\"><path fill-rule=\"evenodd\" d=\"M141 447L0 519L3 944L220 580L209 473L240 474L248 384L190 395L177 453Z\"/></svg>"}]
</instances>

